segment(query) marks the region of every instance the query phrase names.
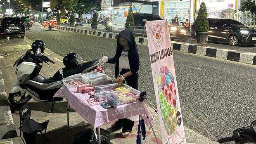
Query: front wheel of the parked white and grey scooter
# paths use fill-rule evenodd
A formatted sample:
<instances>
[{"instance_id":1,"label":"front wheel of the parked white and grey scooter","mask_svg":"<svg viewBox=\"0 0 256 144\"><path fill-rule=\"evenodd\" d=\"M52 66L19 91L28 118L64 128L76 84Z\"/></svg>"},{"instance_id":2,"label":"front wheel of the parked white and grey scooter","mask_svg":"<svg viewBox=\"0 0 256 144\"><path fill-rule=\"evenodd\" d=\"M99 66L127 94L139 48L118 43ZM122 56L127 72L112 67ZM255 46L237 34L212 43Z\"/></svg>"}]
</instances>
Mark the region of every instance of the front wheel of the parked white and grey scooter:
<instances>
[{"instance_id":1,"label":"front wheel of the parked white and grey scooter","mask_svg":"<svg viewBox=\"0 0 256 144\"><path fill-rule=\"evenodd\" d=\"M27 94L26 92L24 92L23 95L21 95L21 92L15 92L13 94L9 94L8 96L8 100L12 105L23 105L25 103L27 103L32 97Z\"/></svg>"}]
</instances>

